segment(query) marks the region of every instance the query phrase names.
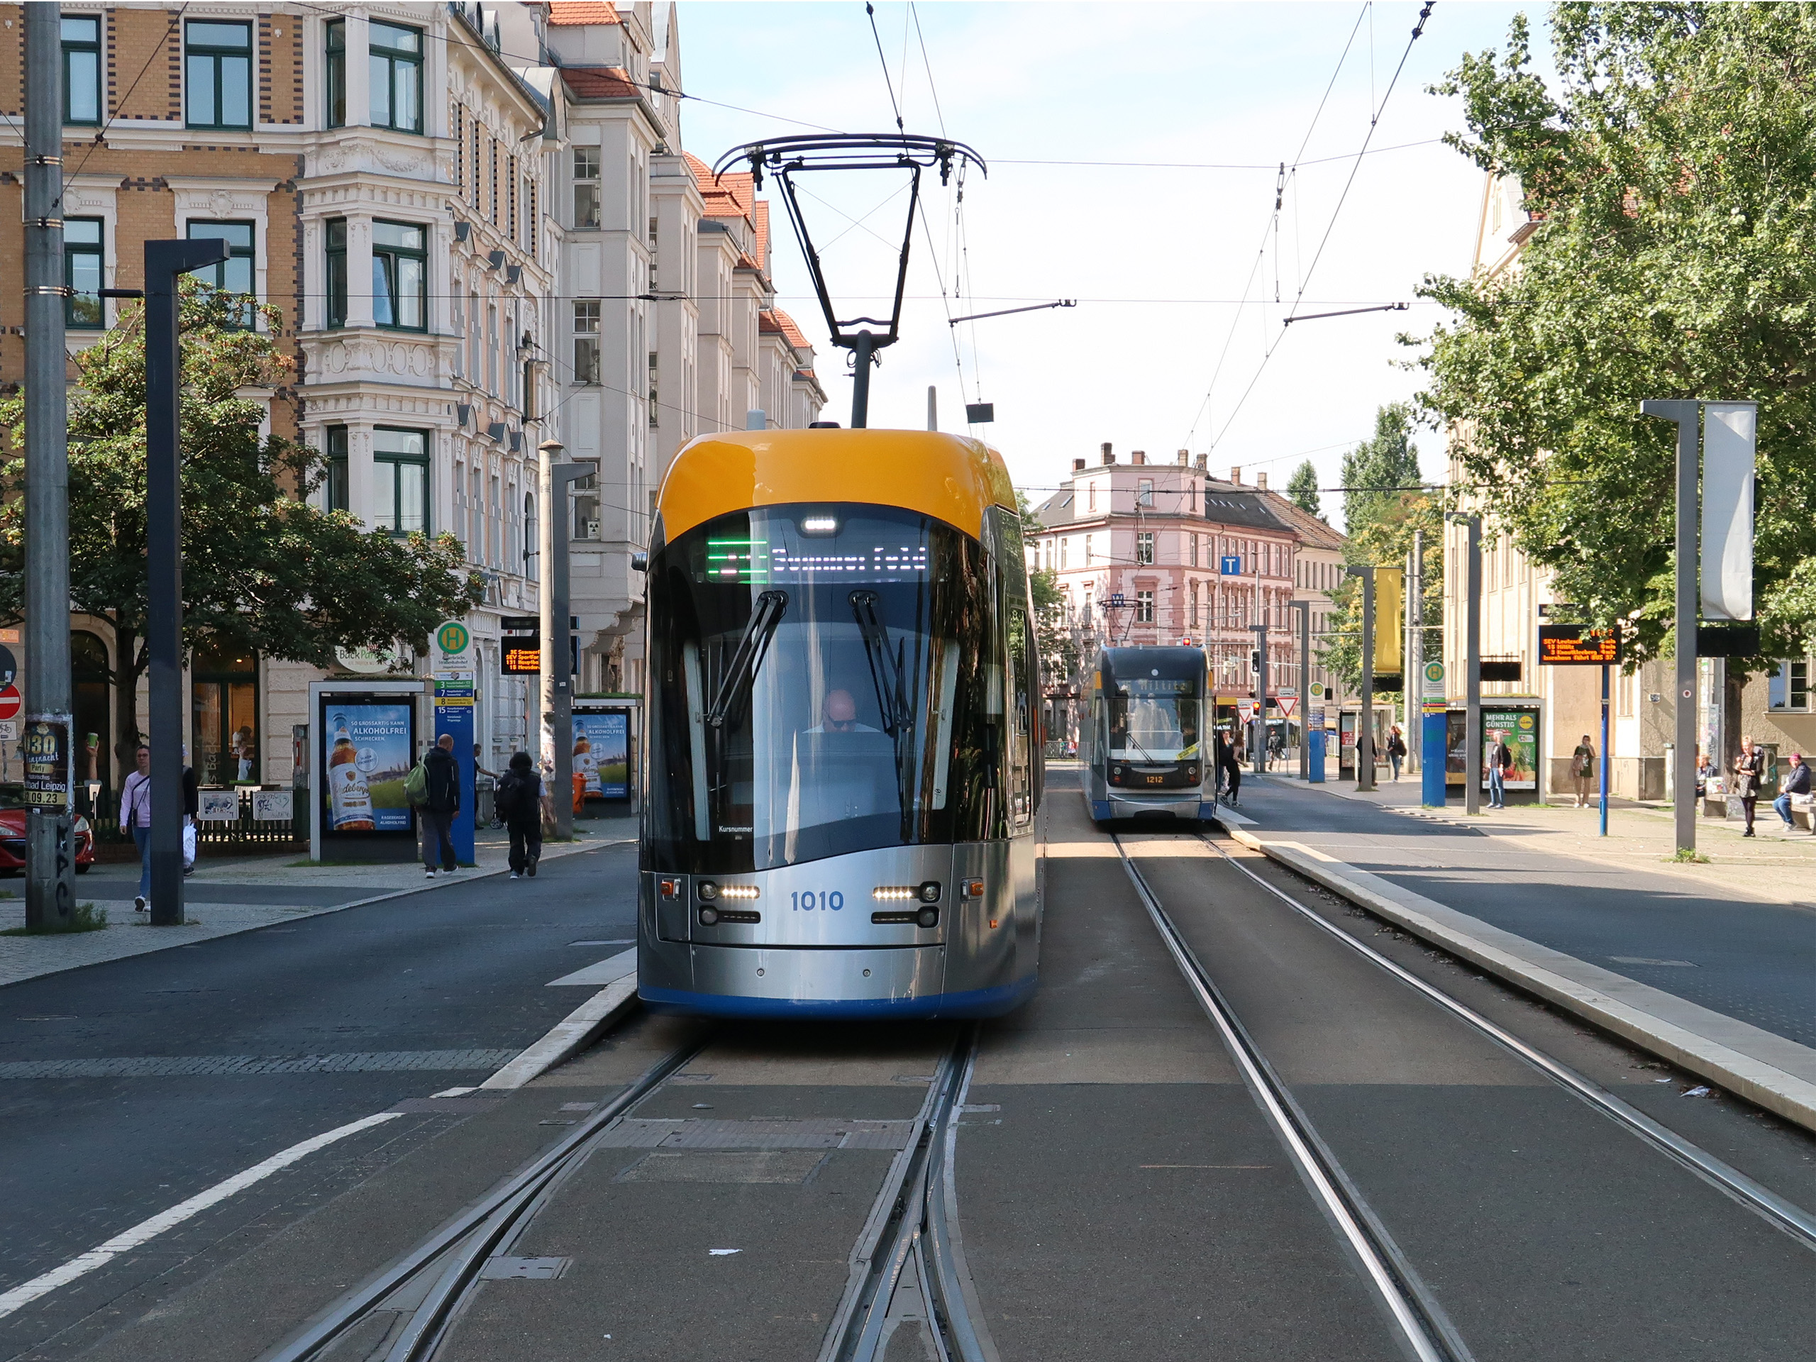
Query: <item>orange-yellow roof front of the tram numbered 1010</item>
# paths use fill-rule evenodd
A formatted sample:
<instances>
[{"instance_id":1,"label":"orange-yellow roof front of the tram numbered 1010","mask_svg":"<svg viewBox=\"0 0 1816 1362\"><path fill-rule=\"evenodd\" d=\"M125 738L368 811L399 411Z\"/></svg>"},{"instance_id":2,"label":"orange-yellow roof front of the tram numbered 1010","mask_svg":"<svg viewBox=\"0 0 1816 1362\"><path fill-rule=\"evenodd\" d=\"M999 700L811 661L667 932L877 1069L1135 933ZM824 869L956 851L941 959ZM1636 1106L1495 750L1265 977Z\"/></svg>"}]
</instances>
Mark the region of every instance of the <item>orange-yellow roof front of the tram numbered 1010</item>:
<instances>
[{"instance_id":1,"label":"orange-yellow roof front of the tram numbered 1010","mask_svg":"<svg viewBox=\"0 0 1816 1362\"><path fill-rule=\"evenodd\" d=\"M977 538L988 507L1015 508L1002 456L939 430L728 430L685 445L657 508L674 539L752 507L857 501L901 507Z\"/></svg>"}]
</instances>

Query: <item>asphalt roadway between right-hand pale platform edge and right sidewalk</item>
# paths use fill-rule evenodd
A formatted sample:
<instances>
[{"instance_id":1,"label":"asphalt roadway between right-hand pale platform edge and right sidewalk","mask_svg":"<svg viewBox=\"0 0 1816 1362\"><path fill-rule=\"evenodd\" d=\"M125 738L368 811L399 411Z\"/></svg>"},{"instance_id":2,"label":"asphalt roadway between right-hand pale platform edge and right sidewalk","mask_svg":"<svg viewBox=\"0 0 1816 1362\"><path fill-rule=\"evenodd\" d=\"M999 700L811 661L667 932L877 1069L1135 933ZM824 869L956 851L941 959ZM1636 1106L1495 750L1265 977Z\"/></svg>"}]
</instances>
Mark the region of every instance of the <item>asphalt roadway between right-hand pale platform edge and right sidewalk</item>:
<instances>
[{"instance_id":1,"label":"asphalt roadway between right-hand pale platform edge and right sidewalk","mask_svg":"<svg viewBox=\"0 0 1816 1362\"><path fill-rule=\"evenodd\" d=\"M1484 923L1816 1046L1816 913L1807 908L1556 855L1545 834L1491 839L1273 781L1244 781L1240 812ZM1720 866L1707 870L1720 883Z\"/></svg>"}]
</instances>

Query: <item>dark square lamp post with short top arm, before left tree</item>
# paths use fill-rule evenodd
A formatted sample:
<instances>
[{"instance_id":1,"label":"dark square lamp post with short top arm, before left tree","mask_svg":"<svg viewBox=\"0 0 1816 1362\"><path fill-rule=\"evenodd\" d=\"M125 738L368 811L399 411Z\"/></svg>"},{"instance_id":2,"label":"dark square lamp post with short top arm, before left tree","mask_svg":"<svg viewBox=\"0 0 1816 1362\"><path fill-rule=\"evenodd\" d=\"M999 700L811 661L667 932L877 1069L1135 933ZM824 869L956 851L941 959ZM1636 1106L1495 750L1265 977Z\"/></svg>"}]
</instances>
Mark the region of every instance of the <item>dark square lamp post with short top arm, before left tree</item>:
<instances>
[{"instance_id":1,"label":"dark square lamp post with short top arm, before left tree","mask_svg":"<svg viewBox=\"0 0 1816 1362\"><path fill-rule=\"evenodd\" d=\"M180 274L227 243L145 242L145 648L151 657L151 924L183 924L183 365Z\"/></svg>"}]
</instances>

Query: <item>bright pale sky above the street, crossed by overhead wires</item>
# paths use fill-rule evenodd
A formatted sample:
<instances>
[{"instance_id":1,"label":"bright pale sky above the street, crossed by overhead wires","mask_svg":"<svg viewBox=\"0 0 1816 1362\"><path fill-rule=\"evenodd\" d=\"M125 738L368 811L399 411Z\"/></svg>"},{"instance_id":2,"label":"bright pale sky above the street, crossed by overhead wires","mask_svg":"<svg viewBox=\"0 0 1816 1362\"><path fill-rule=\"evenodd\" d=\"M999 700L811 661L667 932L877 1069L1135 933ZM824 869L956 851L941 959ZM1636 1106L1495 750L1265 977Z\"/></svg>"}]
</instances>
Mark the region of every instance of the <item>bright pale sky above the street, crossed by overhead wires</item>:
<instances>
[{"instance_id":1,"label":"bright pale sky above the street, crossed by overhead wires","mask_svg":"<svg viewBox=\"0 0 1816 1362\"><path fill-rule=\"evenodd\" d=\"M681 140L710 163L761 138L892 131L893 96L906 131L986 162L962 205L937 176L923 189L872 427L924 429L930 385L946 430L966 430L962 403L990 401L995 421L970 432L1035 501L1104 441L1119 459L1188 449L1217 476L1239 465L1273 487L1309 458L1338 487L1375 410L1418 390L1418 350L1397 336L1427 334L1442 312L1413 289L1467 272L1475 249L1482 173L1438 142L1462 111L1427 87L1466 51L1502 49L1520 7L1446 0L1409 44L1418 9L877 0L873 36L863 0L683 0L681 80L699 98L683 104ZM810 183L819 198L803 196L803 212L839 314L877 316L906 225L903 178ZM823 416L844 423L848 354L826 345L803 252L766 194L779 305L815 345ZM1061 298L1077 307L948 325ZM1293 311L1397 301L1411 307L1282 327ZM1436 432L1418 445L1438 476ZM1340 499L1324 498L1333 523Z\"/></svg>"}]
</instances>

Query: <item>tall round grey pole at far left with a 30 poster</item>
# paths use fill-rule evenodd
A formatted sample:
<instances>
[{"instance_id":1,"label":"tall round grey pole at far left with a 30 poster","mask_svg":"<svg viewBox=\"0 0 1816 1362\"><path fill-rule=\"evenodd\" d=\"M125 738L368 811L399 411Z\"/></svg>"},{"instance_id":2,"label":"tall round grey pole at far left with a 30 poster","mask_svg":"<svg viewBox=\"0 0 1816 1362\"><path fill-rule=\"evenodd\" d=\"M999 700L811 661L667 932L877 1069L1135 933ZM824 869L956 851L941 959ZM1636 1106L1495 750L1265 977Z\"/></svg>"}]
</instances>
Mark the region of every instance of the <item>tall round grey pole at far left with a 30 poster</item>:
<instances>
[{"instance_id":1,"label":"tall round grey pole at far left with a 30 poster","mask_svg":"<svg viewBox=\"0 0 1816 1362\"><path fill-rule=\"evenodd\" d=\"M25 5L25 926L76 910L69 703L62 11Z\"/></svg>"}]
</instances>

